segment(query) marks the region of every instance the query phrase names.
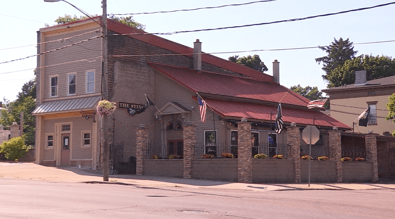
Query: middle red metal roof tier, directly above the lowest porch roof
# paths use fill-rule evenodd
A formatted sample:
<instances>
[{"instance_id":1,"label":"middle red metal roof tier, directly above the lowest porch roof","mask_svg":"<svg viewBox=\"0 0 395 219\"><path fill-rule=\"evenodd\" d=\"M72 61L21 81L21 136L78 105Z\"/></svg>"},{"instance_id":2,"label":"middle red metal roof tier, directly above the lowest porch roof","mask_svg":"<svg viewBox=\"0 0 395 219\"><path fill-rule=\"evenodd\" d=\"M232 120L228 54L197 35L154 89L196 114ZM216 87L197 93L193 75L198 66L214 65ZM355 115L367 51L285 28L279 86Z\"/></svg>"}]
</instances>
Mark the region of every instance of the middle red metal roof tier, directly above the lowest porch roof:
<instances>
[{"instance_id":1,"label":"middle red metal roof tier, directly above the lowest porch roof","mask_svg":"<svg viewBox=\"0 0 395 219\"><path fill-rule=\"evenodd\" d=\"M293 91L288 92L288 88L273 82L218 73L198 73L192 69L156 63L150 63L150 66L194 92L257 99L276 103L281 100L281 103L299 106L307 106L307 103L310 102L309 99Z\"/></svg>"}]
</instances>

